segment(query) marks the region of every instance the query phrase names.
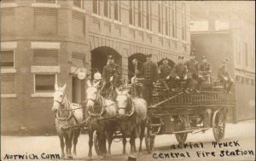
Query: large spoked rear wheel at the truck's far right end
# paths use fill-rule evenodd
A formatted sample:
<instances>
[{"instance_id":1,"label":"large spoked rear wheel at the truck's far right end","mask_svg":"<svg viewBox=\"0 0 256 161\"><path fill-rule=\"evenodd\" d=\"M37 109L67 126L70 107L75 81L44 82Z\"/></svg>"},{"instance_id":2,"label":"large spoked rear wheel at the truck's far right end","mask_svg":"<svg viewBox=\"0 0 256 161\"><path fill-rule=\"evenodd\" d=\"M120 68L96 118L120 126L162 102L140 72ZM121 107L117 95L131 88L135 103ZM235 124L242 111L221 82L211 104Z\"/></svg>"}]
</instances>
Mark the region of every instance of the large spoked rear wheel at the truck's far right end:
<instances>
[{"instance_id":1,"label":"large spoked rear wheel at the truck's far right end","mask_svg":"<svg viewBox=\"0 0 256 161\"><path fill-rule=\"evenodd\" d=\"M220 141L224 138L225 133L225 117L221 111L216 111L212 118L212 131L215 141Z\"/></svg>"}]
</instances>

